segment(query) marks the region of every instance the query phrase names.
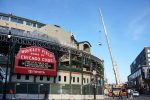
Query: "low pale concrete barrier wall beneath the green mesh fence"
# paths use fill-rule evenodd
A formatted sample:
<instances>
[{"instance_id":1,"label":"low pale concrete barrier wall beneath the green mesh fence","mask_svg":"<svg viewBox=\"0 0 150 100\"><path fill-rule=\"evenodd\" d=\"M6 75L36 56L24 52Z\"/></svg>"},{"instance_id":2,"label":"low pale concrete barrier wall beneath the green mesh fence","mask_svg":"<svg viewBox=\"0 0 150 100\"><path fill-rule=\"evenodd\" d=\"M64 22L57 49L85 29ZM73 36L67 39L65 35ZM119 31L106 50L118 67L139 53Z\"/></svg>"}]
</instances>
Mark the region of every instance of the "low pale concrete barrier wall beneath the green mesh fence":
<instances>
[{"instance_id":1,"label":"low pale concrete barrier wall beneath the green mesh fence","mask_svg":"<svg viewBox=\"0 0 150 100\"><path fill-rule=\"evenodd\" d=\"M15 94L16 99L44 99L44 94ZM2 96L0 96L1 98ZM11 99L11 95L7 95L7 99ZM94 100L94 95L68 95L68 94L49 94L48 100ZM104 95L96 95L96 100L104 100Z\"/></svg>"}]
</instances>

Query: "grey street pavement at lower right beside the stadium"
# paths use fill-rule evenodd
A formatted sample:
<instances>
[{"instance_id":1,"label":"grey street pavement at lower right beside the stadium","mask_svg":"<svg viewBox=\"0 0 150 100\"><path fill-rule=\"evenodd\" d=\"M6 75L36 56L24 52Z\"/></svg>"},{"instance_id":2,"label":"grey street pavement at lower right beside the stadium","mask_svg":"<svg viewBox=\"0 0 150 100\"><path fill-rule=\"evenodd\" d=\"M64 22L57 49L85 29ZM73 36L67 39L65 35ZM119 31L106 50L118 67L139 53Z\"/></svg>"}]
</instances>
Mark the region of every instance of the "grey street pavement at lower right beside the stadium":
<instances>
[{"instance_id":1,"label":"grey street pavement at lower right beside the stadium","mask_svg":"<svg viewBox=\"0 0 150 100\"><path fill-rule=\"evenodd\" d=\"M127 97L123 97L123 99L119 99L119 97L108 97L106 96L104 100L132 100ZM133 100L150 100L150 95L140 95L139 97L133 97Z\"/></svg>"}]
</instances>

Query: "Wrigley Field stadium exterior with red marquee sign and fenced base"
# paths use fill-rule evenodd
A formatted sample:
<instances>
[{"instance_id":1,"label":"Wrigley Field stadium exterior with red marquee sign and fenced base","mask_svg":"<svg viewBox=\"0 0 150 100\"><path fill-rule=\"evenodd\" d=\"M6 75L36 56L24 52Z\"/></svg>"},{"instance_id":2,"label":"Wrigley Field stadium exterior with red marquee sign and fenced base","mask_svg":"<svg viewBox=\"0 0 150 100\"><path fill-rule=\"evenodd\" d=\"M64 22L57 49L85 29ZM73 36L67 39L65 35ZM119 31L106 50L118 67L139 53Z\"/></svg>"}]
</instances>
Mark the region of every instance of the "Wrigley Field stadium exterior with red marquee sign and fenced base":
<instances>
[{"instance_id":1,"label":"Wrigley Field stadium exterior with red marquee sign and fenced base","mask_svg":"<svg viewBox=\"0 0 150 100\"><path fill-rule=\"evenodd\" d=\"M103 64L58 25L0 13L0 98L103 99Z\"/></svg>"}]
</instances>

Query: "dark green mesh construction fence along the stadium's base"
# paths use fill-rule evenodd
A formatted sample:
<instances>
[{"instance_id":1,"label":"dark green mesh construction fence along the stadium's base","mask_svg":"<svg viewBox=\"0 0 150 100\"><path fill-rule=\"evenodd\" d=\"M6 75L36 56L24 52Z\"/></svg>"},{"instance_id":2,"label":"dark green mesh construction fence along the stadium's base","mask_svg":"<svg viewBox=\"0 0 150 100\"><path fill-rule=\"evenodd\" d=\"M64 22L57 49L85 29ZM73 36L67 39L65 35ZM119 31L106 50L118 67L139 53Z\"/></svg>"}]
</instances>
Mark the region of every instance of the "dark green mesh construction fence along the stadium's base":
<instances>
[{"instance_id":1,"label":"dark green mesh construction fence along the stadium's base","mask_svg":"<svg viewBox=\"0 0 150 100\"><path fill-rule=\"evenodd\" d=\"M73 84L38 84L38 83L8 83L6 93L12 89L15 94L73 94L73 95L93 95L93 85L73 85ZM103 94L103 87L96 86L96 95ZM3 84L0 83L0 94L3 93Z\"/></svg>"}]
</instances>

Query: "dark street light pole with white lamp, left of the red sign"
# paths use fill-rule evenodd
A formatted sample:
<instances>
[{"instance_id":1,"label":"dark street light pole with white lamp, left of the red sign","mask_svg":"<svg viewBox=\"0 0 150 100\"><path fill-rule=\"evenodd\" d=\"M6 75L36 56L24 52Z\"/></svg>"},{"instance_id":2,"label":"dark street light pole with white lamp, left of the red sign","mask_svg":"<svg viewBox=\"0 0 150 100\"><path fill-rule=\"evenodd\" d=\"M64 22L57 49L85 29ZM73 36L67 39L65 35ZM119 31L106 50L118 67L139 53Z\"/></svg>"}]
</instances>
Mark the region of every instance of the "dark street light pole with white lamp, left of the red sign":
<instances>
[{"instance_id":1,"label":"dark street light pole with white lamp, left of the red sign","mask_svg":"<svg viewBox=\"0 0 150 100\"><path fill-rule=\"evenodd\" d=\"M6 90L7 90L7 76L8 76L8 66L9 66L9 51L10 51L10 38L11 38L11 31L9 30L9 34L7 35L8 38L8 57L7 57L7 66L6 66L6 75L5 75L5 83L3 86L3 100L6 100Z\"/></svg>"}]
</instances>

